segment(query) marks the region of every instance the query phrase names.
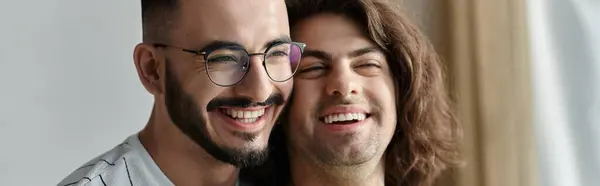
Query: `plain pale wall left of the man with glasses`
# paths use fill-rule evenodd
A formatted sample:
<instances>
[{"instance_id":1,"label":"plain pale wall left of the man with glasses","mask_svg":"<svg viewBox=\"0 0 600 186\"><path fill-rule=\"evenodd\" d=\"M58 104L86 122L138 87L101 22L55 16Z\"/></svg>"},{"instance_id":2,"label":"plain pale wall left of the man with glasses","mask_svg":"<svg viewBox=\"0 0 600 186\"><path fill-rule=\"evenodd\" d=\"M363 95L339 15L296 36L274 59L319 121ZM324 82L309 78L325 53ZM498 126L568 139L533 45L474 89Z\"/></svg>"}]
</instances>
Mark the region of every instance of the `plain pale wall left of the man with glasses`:
<instances>
[{"instance_id":1,"label":"plain pale wall left of the man with glasses","mask_svg":"<svg viewBox=\"0 0 600 186\"><path fill-rule=\"evenodd\" d=\"M56 185L140 130L139 1L0 0L0 185Z\"/></svg>"}]
</instances>

